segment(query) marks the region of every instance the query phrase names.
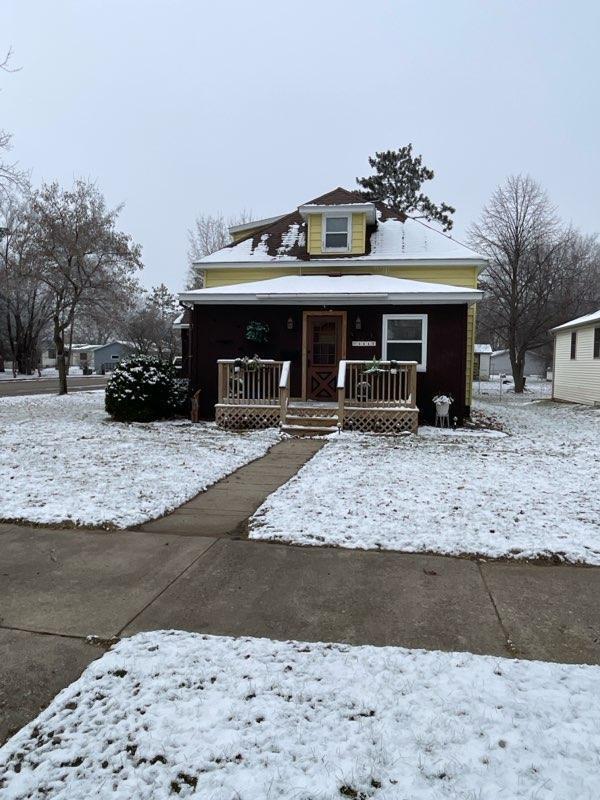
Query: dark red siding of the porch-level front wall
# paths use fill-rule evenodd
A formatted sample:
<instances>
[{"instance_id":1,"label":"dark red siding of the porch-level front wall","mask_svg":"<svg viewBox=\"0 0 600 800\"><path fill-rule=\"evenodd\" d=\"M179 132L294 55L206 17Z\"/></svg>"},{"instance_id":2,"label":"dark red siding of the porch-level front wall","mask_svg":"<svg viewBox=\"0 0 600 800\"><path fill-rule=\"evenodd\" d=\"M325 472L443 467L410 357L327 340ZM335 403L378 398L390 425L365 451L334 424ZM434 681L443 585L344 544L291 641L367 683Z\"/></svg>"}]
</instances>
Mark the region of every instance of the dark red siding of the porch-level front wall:
<instances>
[{"instance_id":1,"label":"dark red siding of the porch-level front wall","mask_svg":"<svg viewBox=\"0 0 600 800\"><path fill-rule=\"evenodd\" d=\"M317 311L316 306L195 306L191 327L190 382L192 391L201 389L200 414L214 418L217 402L217 360L258 353L263 358L292 362L291 396L302 393L302 312ZM452 415L462 420L466 381L466 305L432 306L349 306L328 307L346 311L348 319L346 358L381 358L383 314L427 314L427 371L417 376L417 405L421 415L431 420L432 397L438 392L455 398ZM360 330L356 318L360 317ZM288 328L288 319L293 327ZM269 326L269 342L258 348L246 341L246 327L252 320ZM352 347L352 341L375 341L375 347Z\"/></svg>"}]
</instances>

